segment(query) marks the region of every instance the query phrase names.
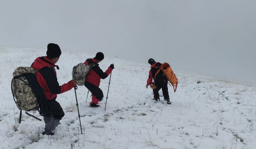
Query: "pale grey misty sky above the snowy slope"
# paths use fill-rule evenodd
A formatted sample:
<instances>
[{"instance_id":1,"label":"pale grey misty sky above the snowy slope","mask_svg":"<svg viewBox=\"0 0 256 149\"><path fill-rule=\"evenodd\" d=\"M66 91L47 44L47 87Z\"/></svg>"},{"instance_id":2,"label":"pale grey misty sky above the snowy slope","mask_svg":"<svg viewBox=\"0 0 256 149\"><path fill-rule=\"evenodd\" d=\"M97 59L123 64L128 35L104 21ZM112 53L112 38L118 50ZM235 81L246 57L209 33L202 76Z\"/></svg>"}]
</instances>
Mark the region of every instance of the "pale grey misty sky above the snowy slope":
<instances>
[{"instance_id":1,"label":"pale grey misty sky above the snowy slope","mask_svg":"<svg viewBox=\"0 0 256 149\"><path fill-rule=\"evenodd\" d=\"M0 47L48 43L256 86L255 0L0 0Z\"/></svg>"}]
</instances>

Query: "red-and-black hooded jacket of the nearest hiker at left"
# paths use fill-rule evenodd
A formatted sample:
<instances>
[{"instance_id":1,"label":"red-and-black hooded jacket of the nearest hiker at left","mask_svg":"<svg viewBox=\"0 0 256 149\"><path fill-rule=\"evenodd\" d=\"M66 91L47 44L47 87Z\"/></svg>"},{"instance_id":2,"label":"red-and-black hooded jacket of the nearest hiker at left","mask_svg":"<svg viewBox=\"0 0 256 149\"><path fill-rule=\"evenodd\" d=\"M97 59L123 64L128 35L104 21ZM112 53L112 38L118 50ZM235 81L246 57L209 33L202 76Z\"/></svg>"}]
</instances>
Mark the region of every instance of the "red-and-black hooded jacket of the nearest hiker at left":
<instances>
[{"instance_id":1,"label":"red-and-black hooded jacket of the nearest hiker at left","mask_svg":"<svg viewBox=\"0 0 256 149\"><path fill-rule=\"evenodd\" d=\"M54 67L57 67L58 69L58 66L53 64L46 56L37 57L31 65L31 68L39 70L36 73L37 81L43 88L45 97L48 100L54 100L56 99L57 94L67 92L75 87L72 81L60 86Z\"/></svg>"}]
</instances>

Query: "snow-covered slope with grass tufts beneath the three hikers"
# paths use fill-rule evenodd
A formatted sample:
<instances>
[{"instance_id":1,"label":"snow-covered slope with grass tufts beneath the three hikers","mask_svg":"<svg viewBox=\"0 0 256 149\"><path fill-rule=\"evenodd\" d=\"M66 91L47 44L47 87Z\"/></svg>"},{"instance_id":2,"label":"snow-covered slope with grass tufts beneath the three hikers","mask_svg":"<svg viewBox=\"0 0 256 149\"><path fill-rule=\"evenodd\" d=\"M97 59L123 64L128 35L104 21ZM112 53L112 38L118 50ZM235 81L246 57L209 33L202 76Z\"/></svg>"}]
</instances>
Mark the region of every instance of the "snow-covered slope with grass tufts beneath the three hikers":
<instances>
[{"instance_id":1,"label":"snow-covered slope with grass tufts beneath the three hikers","mask_svg":"<svg viewBox=\"0 0 256 149\"><path fill-rule=\"evenodd\" d=\"M108 57L99 63L104 71L115 64L106 111L109 77L101 80L105 97L99 108L88 107L87 88L76 90L83 134L72 89L57 97L65 117L55 135L43 136L43 121L23 112L18 124L10 82L15 68L30 66L45 53L46 49L0 48L0 149L256 149L255 87L173 69L179 84L176 93L169 86L168 105L163 97L153 101L152 89L145 88L149 64ZM93 56L62 52L59 83L71 80L73 66Z\"/></svg>"}]
</instances>

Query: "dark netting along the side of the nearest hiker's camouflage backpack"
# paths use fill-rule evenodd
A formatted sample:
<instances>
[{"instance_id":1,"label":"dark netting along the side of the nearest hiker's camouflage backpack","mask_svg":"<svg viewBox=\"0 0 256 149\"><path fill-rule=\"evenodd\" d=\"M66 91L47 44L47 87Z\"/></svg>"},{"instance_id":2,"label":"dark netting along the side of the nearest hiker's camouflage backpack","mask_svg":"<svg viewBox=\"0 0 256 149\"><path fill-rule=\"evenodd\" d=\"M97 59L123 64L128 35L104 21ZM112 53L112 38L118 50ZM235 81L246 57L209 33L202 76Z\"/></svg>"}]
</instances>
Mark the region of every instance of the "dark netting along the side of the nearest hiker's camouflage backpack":
<instances>
[{"instance_id":1,"label":"dark netting along the side of the nearest hiker's camouflage backpack","mask_svg":"<svg viewBox=\"0 0 256 149\"><path fill-rule=\"evenodd\" d=\"M25 74L25 77L26 79L28 79L28 85L30 86L30 88L32 88L32 91L37 98L37 103L39 105L37 111L40 113L41 116L50 116L51 107L44 95L44 91L37 82L37 77L35 76L35 74L32 73Z\"/></svg>"}]
</instances>

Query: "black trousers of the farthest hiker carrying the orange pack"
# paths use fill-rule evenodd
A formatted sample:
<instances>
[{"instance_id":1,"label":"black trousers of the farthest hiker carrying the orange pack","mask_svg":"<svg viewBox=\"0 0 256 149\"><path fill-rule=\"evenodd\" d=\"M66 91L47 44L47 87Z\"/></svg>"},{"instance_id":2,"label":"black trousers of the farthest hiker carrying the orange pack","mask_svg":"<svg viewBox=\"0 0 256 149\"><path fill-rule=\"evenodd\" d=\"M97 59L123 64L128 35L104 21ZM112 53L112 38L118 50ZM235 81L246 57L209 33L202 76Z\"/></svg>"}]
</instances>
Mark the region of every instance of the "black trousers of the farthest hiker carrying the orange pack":
<instances>
[{"instance_id":1,"label":"black trousers of the farthest hiker carrying the orange pack","mask_svg":"<svg viewBox=\"0 0 256 149\"><path fill-rule=\"evenodd\" d=\"M167 85L168 85L167 80L157 84L157 88L153 90L155 99L160 99L159 98L159 93L158 93L160 89L163 90L164 100L169 100L170 99Z\"/></svg>"}]
</instances>

